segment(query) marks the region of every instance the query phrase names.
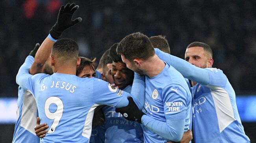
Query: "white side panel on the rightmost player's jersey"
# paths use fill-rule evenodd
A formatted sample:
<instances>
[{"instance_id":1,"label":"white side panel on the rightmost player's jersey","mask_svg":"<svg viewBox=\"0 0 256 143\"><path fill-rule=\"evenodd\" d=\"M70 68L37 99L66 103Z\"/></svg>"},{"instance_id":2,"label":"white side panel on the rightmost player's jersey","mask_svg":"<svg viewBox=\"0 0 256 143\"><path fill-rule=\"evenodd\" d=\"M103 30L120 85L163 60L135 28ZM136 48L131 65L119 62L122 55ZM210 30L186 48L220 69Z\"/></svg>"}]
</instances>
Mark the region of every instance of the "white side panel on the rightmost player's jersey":
<instances>
[{"instance_id":1,"label":"white side panel on the rightmost player's jersey","mask_svg":"<svg viewBox=\"0 0 256 143\"><path fill-rule=\"evenodd\" d=\"M219 131L222 132L230 123L236 121L228 92L221 87L210 87L218 118Z\"/></svg>"}]
</instances>

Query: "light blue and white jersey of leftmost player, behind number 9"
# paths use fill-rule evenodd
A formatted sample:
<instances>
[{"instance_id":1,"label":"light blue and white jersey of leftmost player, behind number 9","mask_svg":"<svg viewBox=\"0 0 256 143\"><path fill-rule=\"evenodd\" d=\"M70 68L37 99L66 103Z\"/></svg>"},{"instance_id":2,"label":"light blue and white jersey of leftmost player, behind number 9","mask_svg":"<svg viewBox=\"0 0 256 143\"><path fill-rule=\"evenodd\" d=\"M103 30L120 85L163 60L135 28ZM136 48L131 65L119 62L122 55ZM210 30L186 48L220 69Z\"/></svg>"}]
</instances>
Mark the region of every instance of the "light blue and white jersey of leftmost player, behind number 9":
<instances>
[{"instance_id":1,"label":"light blue and white jersey of leftmost player, behind number 9","mask_svg":"<svg viewBox=\"0 0 256 143\"><path fill-rule=\"evenodd\" d=\"M39 143L34 127L37 118L37 105L33 95L19 86L17 121L12 143Z\"/></svg>"}]
</instances>

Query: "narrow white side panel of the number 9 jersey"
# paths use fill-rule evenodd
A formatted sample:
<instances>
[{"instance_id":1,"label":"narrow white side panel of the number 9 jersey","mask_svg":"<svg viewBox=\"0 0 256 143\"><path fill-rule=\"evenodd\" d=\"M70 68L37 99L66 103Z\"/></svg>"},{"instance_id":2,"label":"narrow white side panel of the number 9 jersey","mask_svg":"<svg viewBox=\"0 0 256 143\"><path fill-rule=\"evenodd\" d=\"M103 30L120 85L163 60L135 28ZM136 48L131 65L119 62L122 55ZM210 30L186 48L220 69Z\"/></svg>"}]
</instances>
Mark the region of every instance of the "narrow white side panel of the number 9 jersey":
<instances>
[{"instance_id":1,"label":"narrow white side panel of the number 9 jersey","mask_svg":"<svg viewBox=\"0 0 256 143\"><path fill-rule=\"evenodd\" d=\"M89 110L86 119L85 119L85 123L84 123L84 127L83 127L83 132L82 132L82 136L84 136L85 138L88 138L90 140L91 137L91 129L92 129L92 124L93 124L93 114L94 114L94 110L96 107L98 107L100 104L94 104L91 109Z\"/></svg>"}]
</instances>

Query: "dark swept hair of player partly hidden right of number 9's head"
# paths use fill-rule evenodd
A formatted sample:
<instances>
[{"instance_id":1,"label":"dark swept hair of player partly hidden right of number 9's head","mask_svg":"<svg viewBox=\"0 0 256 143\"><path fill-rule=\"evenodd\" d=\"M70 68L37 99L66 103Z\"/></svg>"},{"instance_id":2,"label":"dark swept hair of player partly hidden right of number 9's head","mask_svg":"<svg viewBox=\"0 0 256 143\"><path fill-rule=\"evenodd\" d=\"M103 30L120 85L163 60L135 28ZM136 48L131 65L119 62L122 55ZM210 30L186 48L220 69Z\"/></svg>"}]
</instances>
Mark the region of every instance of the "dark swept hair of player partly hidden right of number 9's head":
<instances>
[{"instance_id":1,"label":"dark swept hair of player partly hidden right of number 9's head","mask_svg":"<svg viewBox=\"0 0 256 143\"><path fill-rule=\"evenodd\" d=\"M78 57L78 58L81 59L81 62L78 68L76 69L76 75L80 74L86 66L91 67L95 71L96 58L93 58L92 60L85 57Z\"/></svg>"}]
</instances>

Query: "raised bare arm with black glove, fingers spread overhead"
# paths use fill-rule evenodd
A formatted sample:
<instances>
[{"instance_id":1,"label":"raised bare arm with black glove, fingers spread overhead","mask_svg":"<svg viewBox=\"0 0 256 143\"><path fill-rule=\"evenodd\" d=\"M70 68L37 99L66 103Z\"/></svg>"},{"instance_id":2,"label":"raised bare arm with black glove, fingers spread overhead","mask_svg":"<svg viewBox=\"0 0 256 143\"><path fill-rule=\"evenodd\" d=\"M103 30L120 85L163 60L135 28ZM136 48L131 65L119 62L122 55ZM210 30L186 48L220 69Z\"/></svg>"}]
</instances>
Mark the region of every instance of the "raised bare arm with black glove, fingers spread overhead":
<instances>
[{"instance_id":1,"label":"raised bare arm with black glove, fingers spread overhead","mask_svg":"<svg viewBox=\"0 0 256 143\"><path fill-rule=\"evenodd\" d=\"M43 67L50 56L52 45L59 39L63 31L82 21L82 18L76 18L72 20L72 16L79 6L72 3L68 3L65 6L62 5L59 9L59 14L56 24L50 30L50 34L46 37L44 42L41 44L37 54L35 55L35 61L30 68L30 74L34 75L43 72Z\"/></svg>"}]
</instances>

